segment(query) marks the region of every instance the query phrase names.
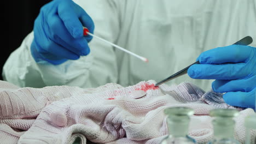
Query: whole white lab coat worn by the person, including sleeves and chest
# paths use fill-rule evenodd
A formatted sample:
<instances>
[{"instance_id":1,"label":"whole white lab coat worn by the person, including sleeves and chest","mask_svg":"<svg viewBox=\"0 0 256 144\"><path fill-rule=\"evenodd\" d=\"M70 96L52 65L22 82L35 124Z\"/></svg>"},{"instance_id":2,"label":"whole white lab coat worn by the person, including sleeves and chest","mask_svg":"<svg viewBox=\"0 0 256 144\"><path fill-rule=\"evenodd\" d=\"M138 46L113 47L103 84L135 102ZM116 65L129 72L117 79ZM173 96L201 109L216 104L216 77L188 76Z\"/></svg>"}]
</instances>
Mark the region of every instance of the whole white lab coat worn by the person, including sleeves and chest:
<instances>
[{"instance_id":1,"label":"whole white lab coat worn by the person, including sleeves and chest","mask_svg":"<svg viewBox=\"0 0 256 144\"><path fill-rule=\"evenodd\" d=\"M20 87L68 85L122 86L165 79L194 63L201 52L234 44L251 35L256 41L255 0L77 0L95 22L95 35L147 57L144 63L119 49L92 39L91 53L60 65L36 63L31 56L33 32L11 53L4 80ZM256 46L255 41L252 46ZM228 53L227 53L228 55ZM205 91L213 80L188 75L167 84L192 82Z\"/></svg>"}]
</instances>

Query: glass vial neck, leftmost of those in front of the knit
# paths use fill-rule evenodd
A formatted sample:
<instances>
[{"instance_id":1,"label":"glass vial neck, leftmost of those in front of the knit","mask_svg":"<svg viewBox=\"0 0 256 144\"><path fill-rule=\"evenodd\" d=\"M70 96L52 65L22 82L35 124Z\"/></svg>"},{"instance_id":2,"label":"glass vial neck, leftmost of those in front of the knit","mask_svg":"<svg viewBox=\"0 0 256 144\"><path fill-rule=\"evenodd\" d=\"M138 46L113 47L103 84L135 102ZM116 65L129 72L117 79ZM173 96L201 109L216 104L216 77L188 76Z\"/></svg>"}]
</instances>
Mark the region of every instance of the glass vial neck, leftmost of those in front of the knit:
<instances>
[{"instance_id":1,"label":"glass vial neck, leftmost of those in front of the knit","mask_svg":"<svg viewBox=\"0 0 256 144\"><path fill-rule=\"evenodd\" d=\"M188 136L190 116L194 114L188 107L170 107L164 110L167 115L168 136L161 144L196 143Z\"/></svg>"}]
</instances>

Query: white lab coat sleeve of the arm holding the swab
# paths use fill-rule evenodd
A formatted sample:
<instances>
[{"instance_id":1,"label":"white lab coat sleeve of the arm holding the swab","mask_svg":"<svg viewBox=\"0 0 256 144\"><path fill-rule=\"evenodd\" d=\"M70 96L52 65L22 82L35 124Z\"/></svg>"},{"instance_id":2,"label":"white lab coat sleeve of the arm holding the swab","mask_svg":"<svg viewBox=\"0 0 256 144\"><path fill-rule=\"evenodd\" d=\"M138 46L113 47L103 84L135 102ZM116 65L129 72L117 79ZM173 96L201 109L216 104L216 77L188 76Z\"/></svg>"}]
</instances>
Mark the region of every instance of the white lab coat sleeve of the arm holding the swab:
<instances>
[{"instance_id":1,"label":"white lab coat sleeve of the arm holding the swab","mask_svg":"<svg viewBox=\"0 0 256 144\"><path fill-rule=\"evenodd\" d=\"M113 1L74 1L85 9L95 23L94 34L115 43L119 33L118 3ZM117 83L117 58L112 46L92 39L91 52L76 61L60 65L48 62L36 63L30 46L33 32L28 34L21 46L9 56L3 67L5 81L20 87L78 86L97 87L109 82Z\"/></svg>"}]
</instances>

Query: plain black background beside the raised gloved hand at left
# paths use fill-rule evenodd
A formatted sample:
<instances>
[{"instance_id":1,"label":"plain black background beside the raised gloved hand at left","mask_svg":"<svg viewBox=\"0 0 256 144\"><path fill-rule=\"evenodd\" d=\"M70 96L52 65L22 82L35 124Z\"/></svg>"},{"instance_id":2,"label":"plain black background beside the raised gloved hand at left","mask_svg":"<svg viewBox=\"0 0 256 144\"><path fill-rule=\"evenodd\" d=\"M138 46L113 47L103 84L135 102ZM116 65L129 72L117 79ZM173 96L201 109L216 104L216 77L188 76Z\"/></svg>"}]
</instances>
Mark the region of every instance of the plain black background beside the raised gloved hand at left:
<instances>
[{"instance_id":1,"label":"plain black background beside the raised gloved hand at left","mask_svg":"<svg viewBox=\"0 0 256 144\"><path fill-rule=\"evenodd\" d=\"M1 59L0 59L0 79L2 78L2 69L10 53L17 49L22 40L33 30L34 20L39 14L40 8L50 2L50 0L21 0L5 2L4 26L2 27Z\"/></svg>"}]
</instances>

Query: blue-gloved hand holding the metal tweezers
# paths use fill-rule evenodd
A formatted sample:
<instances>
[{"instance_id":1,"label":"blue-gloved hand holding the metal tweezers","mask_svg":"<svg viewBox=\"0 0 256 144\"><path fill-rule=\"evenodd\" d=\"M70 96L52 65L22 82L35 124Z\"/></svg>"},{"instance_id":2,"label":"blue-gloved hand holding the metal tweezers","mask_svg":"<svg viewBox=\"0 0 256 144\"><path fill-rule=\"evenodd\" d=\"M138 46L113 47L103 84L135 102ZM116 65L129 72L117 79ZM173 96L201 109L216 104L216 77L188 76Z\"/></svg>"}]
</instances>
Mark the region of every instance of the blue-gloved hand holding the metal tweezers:
<instances>
[{"instance_id":1,"label":"blue-gloved hand holding the metal tweezers","mask_svg":"<svg viewBox=\"0 0 256 144\"><path fill-rule=\"evenodd\" d=\"M188 69L193 79L216 79L215 92L232 106L255 107L256 47L230 45L208 50L197 58L200 64Z\"/></svg>"}]
</instances>

